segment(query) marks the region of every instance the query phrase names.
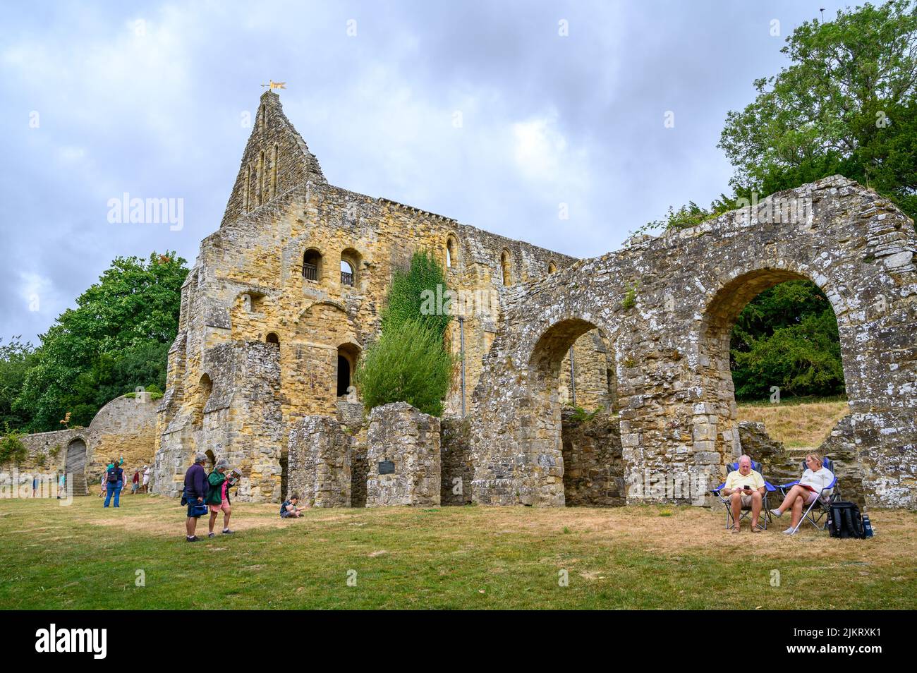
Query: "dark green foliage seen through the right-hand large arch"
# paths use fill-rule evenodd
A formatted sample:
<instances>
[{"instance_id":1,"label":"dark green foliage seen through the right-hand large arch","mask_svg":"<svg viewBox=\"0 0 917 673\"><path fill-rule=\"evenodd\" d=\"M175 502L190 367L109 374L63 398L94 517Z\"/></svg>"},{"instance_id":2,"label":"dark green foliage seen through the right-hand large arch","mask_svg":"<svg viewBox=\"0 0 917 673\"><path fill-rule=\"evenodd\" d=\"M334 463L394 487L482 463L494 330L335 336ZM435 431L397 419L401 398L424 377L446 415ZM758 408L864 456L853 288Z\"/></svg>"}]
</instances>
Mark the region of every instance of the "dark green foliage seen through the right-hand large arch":
<instances>
[{"instance_id":1,"label":"dark green foliage seen through the right-hand large arch","mask_svg":"<svg viewBox=\"0 0 917 673\"><path fill-rule=\"evenodd\" d=\"M810 281L775 285L748 303L730 348L735 398L761 399L770 386L790 395L844 392L834 310Z\"/></svg>"}]
</instances>

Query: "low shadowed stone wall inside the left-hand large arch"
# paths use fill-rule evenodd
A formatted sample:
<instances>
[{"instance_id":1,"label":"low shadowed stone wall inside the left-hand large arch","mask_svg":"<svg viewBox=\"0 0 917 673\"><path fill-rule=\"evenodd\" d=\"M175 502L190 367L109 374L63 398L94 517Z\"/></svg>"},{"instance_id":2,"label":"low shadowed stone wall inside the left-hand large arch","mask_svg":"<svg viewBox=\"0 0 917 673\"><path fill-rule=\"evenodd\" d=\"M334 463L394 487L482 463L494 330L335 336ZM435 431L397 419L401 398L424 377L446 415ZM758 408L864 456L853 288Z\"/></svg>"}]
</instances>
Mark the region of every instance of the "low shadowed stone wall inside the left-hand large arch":
<instances>
[{"instance_id":1,"label":"low shadowed stone wall inside the left-hand large arch","mask_svg":"<svg viewBox=\"0 0 917 673\"><path fill-rule=\"evenodd\" d=\"M617 417L600 411L579 418L572 409L564 409L561 423L564 503L624 505L624 459Z\"/></svg>"}]
</instances>

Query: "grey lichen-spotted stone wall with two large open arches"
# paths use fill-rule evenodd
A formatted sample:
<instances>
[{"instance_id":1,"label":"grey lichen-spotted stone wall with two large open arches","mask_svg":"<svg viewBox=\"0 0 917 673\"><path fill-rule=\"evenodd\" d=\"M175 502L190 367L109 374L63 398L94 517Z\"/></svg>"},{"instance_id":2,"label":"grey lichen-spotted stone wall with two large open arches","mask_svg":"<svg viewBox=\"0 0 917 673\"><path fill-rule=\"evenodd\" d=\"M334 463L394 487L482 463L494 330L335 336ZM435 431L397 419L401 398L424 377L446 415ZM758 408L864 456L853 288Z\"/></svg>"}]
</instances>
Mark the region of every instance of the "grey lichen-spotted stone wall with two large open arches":
<instances>
[{"instance_id":1,"label":"grey lichen-spotted stone wall with two large open arches","mask_svg":"<svg viewBox=\"0 0 917 673\"><path fill-rule=\"evenodd\" d=\"M553 325L581 320L613 336L627 501L703 502L738 444L722 367L730 321L757 292L807 278L837 316L867 498L913 506L915 250L906 215L834 176L518 287L474 392L473 498L563 502L529 358Z\"/></svg>"}]
</instances>

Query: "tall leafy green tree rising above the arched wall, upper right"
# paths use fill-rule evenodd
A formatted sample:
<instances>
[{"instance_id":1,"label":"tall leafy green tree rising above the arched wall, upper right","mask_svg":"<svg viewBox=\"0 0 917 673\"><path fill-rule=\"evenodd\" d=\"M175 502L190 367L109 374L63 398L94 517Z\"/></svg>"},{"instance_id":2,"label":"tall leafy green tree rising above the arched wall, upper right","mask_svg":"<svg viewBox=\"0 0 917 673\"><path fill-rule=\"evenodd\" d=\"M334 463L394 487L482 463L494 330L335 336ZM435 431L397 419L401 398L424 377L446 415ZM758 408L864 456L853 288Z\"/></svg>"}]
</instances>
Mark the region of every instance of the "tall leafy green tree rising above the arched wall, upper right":
<instances>
[{"instance_id":1,"label":"tall leafy green tree rising above the arched wall, upper right","mask_svg":"<svg viewBox=\"0 0 917 673\"><path fill-rule=\"evenodd\" d=\"M768 194L835 173L917 215L917 6L893 0L796 28L790 65L755 82L726 116L719 147L739 195Z\"/></svg>"}]
</instances>

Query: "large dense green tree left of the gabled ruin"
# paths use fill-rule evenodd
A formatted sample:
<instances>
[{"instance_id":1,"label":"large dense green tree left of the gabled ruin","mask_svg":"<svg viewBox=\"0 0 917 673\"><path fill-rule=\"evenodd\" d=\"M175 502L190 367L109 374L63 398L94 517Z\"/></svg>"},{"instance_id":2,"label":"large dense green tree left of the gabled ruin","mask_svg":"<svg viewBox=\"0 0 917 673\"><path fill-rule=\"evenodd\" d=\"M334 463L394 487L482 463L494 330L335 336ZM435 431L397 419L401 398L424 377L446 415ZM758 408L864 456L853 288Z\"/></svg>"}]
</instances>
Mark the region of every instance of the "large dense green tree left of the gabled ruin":
<instances>
[{"instance_id":1,"label":"large dense green tree left of the gabled ruin","mask_svg":"<svg viewBox=\"0 0 917 673\"><path fill-rule=\"evenodd\" d=\"M117 258L62 313L28 359L13 411L30 432L89 425L110 400L137 386L165 387L166 354L178 332L185 260L174 253Z\"/></svg>"}]
</instances>

